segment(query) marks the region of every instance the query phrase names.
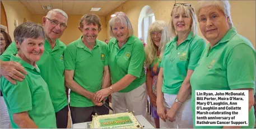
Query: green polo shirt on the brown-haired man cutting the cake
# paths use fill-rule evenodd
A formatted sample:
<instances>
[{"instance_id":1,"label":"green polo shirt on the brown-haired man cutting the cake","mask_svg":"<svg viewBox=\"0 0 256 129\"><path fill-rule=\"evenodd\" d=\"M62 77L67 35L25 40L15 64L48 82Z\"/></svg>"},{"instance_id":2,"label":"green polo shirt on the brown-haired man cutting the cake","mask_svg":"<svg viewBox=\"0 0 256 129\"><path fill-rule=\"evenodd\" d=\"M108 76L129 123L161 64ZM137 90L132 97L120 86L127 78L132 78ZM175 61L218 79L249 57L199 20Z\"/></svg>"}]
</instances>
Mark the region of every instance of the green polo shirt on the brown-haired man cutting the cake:
<instances>
[{"instance_id":1,"label":"green polo shirt on the brown-haired man cutting the cake","mask_svg":"<svg viewBox=\"0 0 256 129\"><path fill-rule=\"evenodd\" d=\"M82 42L82 36L68 44L64 53L66 70L73 70L73 80L89 92L101 89L104 66L108 66L108 45L96 39L94 48L90 51ZM91 107L94 103L76 92L70 92L70 106Z\"/></svg>"}]
</instances>

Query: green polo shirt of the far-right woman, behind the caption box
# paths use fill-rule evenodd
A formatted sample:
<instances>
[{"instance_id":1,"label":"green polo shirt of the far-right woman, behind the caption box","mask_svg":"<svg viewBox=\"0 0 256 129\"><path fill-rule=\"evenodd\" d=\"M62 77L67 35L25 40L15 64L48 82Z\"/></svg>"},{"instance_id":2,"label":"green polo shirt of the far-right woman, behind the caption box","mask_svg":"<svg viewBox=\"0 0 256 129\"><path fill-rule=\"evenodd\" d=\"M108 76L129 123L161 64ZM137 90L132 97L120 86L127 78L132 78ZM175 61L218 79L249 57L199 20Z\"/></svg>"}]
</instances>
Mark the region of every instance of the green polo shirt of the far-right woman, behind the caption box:
<instances>
[{"instance_id":1,"label":"green polo shirt of the far-right woman, behind the caption box","mask_svg":"<svg viewBox=\"0 0 256 129\"><path fill-rule=\"evenodd\" d=\"M194 128L222 128L223 126L195 125L195 90L236 90L253 88L255 92L255 49L252 43L231 28L215 46L204 49L194 70L192 87L192 113ZM249 112L249 126L254 128L254 107Z\"/></svg>"}]
</instances>

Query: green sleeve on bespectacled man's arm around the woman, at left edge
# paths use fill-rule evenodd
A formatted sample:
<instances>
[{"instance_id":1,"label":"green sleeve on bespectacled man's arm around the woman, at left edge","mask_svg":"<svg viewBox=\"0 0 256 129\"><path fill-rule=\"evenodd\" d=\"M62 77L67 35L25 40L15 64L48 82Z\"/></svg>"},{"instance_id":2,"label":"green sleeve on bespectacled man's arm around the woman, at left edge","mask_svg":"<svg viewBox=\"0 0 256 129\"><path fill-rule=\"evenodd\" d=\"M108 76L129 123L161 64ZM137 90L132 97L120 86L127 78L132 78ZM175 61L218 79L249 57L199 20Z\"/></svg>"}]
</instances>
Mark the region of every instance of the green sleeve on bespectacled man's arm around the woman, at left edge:
<instances>
[{"instance_id":1,"label":"green sleeve on bespectacled man's arm around the woman, at left edge","mask_svg":"<svg viewBox=\"0 0 256 129\"><path fill-rule=\"evenodd\" d=\"M16 44L15 42L12 42L10 46L7 47L6 51L4 51L3 54L1 55L1 60L10 61L11 54L15 54L17 52L18 50L17 50Z\"/></svg>"}]
</instances>

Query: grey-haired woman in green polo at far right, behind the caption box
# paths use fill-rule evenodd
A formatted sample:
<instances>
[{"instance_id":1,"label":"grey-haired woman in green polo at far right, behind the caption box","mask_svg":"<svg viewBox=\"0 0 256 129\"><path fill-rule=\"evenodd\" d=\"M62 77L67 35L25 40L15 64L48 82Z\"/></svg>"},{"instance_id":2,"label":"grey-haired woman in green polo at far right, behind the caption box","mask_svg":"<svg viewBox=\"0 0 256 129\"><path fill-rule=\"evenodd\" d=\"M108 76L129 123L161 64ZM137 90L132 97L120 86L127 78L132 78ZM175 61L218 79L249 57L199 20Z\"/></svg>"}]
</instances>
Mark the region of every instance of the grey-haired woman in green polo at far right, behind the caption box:
<instances>
[{"instance_id":1,"label":"grey-haired woman in green polo at far right, behind the caption box","mask_svg":"<svg viewBox=\"0 0 256 129\"><path fill-rule=\"evenodd\" d=\"M196 90L248 90L249 122L241 128L254 128L255 49L248 39L236 32L229 1L199 1L197 5L199 27L209 43L190 78L194 128L232 128L196 126Z\"/></svg>"}]
</instances>

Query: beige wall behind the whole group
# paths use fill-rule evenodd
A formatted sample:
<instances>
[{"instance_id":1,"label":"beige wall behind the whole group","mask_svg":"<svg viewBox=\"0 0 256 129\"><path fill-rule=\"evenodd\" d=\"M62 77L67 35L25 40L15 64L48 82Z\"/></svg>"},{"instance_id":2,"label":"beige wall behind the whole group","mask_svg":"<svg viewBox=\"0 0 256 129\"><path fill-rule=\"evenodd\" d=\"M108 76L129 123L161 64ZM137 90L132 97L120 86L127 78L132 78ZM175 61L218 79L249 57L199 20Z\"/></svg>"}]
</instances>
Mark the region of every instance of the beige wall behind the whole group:
<instances>
[{"instance_id":1,"label":"beige wall behind the whole group","mask_svg":"<svg viewBox=\"0 0 256 129\"><path fill-rule=\"evenodd\" d=\"M191 3L193 7L197 3L197 1L176 1L176 3L179 2ZM169 23L170 12L174 3L175 1L127 1L107 16L100 16L102 31L99 33L98 39L104 41L106 38L109 38L107 32L109 27L106 24L108 24L110 15L114 12L123 11L127 14L132 22L134 35L137 36L139 13L144 6L148 5L152 8L156 20L164 20ZM248 38L255 47L255 1L230 1L230 4L232 21L238 33ZM43 15L33 15L18 1L3 1L3 6L6 10L8 29L12 39L15 19L18 20L18 24L22 23L24 18L27 21L34 21L36 23L41 23L42 21ZM69 16L68 28L60 38L64 43L69 44L81 36L81 32L77 28L80 18L81 16ZM198 34L202 36L199 27Z\"/></svg>"}]
</instances>

